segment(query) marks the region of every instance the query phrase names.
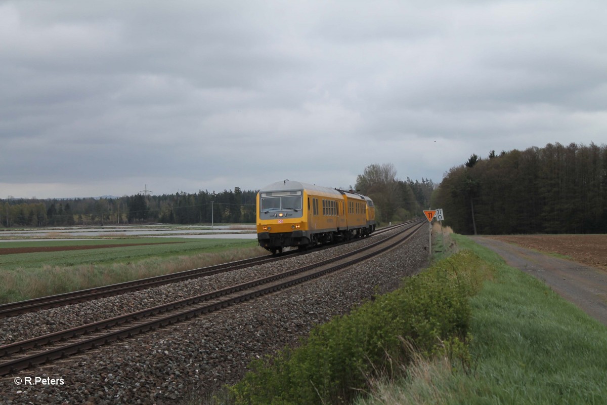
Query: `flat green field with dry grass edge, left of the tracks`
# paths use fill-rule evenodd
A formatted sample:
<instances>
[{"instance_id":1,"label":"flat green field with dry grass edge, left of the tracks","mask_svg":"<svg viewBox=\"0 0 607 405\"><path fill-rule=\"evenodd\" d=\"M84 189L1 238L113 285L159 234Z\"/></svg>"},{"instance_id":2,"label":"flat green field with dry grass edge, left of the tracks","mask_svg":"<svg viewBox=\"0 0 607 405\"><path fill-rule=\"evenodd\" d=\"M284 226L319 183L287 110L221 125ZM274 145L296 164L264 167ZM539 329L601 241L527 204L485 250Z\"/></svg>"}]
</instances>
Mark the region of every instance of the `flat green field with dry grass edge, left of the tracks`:
<instances>
[{"instance_id":1,"label":"flat green field with dry grass edge, left of the tracks","mask_svg":"<svg viewBox=\"0 0 607 405\"><path fill-rule=\"evenodd\" d=\"M144 239L151 243L151 239ZM78 241L78 244L108 243ZM162 239L146 246L0 255L0 304L260 256L256 240ZM11 245L6 242L2 245ZM76 242L32 242L75 245ZM114 241L137 243L137 239ZM29 245L32 246L32 245Z\"/></svg>"}]
</instances>

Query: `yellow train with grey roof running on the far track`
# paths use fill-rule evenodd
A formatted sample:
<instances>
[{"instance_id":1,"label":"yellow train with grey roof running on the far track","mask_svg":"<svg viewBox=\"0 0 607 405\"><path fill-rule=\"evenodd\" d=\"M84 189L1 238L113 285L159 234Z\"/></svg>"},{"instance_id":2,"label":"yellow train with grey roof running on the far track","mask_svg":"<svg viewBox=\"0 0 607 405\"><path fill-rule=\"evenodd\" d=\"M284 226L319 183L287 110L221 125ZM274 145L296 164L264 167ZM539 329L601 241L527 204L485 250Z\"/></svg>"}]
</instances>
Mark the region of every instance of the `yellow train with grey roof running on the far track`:
<instances>
[{"instance_id":1,"label":"yellow train with grey roof running on the far track","mask_svg":"<svg viewBox=\"0 0 607 405\"><path fill-rule=\"evenodd\" d=\"M272 253L375 231L373 201L361 194L284 180L257 193L257 240Z\"/></svg>"}]
</instances>

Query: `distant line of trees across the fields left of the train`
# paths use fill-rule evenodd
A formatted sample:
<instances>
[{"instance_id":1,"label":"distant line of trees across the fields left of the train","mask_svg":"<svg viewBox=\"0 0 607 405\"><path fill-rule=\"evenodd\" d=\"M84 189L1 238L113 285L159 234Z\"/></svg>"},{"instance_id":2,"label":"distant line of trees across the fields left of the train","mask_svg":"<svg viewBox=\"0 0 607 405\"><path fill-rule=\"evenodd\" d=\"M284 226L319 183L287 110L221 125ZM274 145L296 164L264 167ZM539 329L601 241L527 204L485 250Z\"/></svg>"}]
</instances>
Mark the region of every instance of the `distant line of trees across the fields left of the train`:
<instances>
[{"instance_id":1,"label":"distant line of trees across the fields left of the train","mask_svg":"<svg viewBox=\"0 0 607 405\"><path fill-rule=\"evenodd\" d=\"M124 223L254 223L257 191L178 192L66 200L0 200L0 226L117 225ZM213 218L211 219L211 211Z\"/></svg>"}]
</instances>

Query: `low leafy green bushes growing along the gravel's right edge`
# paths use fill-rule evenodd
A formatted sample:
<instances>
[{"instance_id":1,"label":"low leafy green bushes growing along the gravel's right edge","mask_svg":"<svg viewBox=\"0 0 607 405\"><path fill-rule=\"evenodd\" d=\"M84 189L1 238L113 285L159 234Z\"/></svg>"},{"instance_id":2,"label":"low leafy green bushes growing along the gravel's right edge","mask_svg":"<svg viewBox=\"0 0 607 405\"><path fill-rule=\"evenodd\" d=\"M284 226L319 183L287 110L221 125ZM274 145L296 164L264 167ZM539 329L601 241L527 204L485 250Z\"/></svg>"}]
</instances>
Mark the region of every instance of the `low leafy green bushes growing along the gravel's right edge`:
<instances>
[{"instance_id":1,"label":"low leafy green bushes growing along the gravel's right edge","mask_svg":"<svg viewBox=\"0 0 607 405\"><path fill-rule=\"evenodd\" d=\"M399 374L395 364L418 356L467 364L469 296L485 276L470 251L438 262L393 293L314 328L296 349L254 361L229 388L227 403L347 404L372 379Z\"/></svg>"}]
</instances>

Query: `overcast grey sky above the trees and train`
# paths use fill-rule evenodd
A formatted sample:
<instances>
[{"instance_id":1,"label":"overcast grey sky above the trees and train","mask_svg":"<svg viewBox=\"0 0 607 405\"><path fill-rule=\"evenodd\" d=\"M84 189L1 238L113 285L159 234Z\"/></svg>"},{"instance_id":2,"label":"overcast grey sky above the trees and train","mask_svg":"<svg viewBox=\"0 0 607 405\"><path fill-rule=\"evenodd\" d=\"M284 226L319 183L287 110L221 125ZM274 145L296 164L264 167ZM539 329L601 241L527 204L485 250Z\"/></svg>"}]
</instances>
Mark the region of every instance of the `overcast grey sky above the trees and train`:
<instances>
[{"instance_id":1,"label":"overcast grey sky above the trees and train","mask_svg":"<svg viewBox=\"0 0 607 405\"><path fill-rule=\"evenodd\" d=\"M346 188L607 141L607 7L0 0L0 198Z\"/></svg>"}]
</instances>

